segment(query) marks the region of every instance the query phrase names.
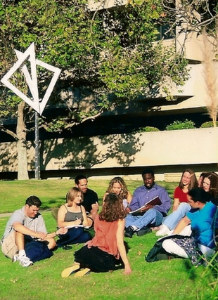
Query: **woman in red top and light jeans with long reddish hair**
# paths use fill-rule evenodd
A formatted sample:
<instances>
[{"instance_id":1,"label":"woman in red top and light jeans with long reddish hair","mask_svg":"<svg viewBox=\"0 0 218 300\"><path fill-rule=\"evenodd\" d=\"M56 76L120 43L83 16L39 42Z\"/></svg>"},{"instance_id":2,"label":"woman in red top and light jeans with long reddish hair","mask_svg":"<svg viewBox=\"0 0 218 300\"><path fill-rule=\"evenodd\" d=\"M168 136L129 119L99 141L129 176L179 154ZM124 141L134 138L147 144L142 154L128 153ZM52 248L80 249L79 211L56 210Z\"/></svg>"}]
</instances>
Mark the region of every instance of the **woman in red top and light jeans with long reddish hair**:
<instances>
[{"instance_id":1,"label":"woman in red top and light jeans with long reddish hair","mask_svg":"<svg viewBox=\"0 0 218 300\"><path fill-rule=\"evenodd\" d=\"M172 214L169 214L165 221L163 221L156 236L170 235L179 221L184 218L186 213L191 210L191 206L187 203L188 191L192 188L198 187L198 181L195 173L191 169L185 169L181 174L179 186L174 190L174 204L172 207Z\"/></svg>"}]
</instances>

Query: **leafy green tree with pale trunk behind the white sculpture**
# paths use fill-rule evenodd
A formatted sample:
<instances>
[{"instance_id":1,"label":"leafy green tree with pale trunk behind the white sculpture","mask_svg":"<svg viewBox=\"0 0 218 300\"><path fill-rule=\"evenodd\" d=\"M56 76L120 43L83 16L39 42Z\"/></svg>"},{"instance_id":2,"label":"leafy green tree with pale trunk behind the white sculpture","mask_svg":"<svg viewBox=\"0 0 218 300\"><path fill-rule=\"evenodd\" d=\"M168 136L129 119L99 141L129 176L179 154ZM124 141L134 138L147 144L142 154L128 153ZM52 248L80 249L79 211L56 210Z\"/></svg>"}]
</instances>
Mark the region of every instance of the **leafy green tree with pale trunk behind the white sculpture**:
<instances>
[{"instance_id":1,"label":"leafy green tree with pale trunk behind the white sculpture","mask_svg":"<svg viewBox=\"0 0 218 300\"><path fill-rule=\"evenodd\" d=\"M95 119L140 95L164 90L170 96L170 83L184 84L188 71L184 53L157 41L157 28L169 20L160 0L94 12L86 0L4 0L0 4L0 77L16 61L14 49L25 51L33 41L39 60L60 67L52 101L68 105L69 112L53 120L42 117L41 126L53 131ZM51 74L42 68L37 72L42 98ZM21 72L15 72L11 81L23 93L30 93ZM4 125L0 129L18 143L18 179L25 179L27 171L21 174L21 170L27 170L26 124L33 112L4 86L0 88L0 117L18 118L16 132ZM76 89L82 101L70 105L68 96Z\"/></svg>"}]
</instances>

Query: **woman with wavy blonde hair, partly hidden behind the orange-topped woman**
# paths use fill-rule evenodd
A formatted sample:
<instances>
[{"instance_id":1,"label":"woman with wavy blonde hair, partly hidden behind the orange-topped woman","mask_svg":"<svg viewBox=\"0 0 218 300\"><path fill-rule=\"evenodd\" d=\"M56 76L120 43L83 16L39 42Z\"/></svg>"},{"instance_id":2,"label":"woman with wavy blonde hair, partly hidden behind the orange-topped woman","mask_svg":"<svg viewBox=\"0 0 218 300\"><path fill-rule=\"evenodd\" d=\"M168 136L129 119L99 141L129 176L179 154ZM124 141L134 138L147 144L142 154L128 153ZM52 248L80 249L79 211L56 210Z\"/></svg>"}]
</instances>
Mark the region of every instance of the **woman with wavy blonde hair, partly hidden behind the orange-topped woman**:
<instances>
[{"instance_id":1,"label":"woman with wavy blonde hair, partly hidden behind the orange-topped woman","mask_svg":"<svg viewBox=\"0 0 218 300\"><path fill-rule=\"evenodd\" d=\"M105 200L105 197L110 193L115 193L116 195L118 195L120 197L120 199L122 200L124 209L126 209L129 206L129 204L132 200L132 195L129 192L129 190L127 189L126 183L124 182L124 180L121 177L118 177L118 176L111 179L108 189L106 190L106 193L103 196L103 202Z\"/></svg>"}]
</instances>

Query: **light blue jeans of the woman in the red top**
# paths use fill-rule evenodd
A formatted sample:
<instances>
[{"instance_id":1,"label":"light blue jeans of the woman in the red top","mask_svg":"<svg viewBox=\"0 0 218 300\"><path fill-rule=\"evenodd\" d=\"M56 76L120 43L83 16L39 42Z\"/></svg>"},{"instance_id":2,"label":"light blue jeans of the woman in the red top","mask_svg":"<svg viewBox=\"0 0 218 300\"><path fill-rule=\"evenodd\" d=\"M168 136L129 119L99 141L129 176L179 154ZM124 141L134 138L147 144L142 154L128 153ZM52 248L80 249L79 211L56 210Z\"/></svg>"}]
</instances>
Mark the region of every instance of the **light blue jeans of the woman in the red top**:
<instances>
[{"instance_id":1,"label":"light blue jeans of the woman in the red top","mask_svg":"<svg viewBox=\"0 0 218 300\"><path fill-rule=\"evenodd\" d=\"M181 202L176 211L173 211L172 214L167 216L163 224L166 225L170 230L173 230L179 221L186 216L186 213L190 211L191 206L186 202Z\"/></svg>"}]
</instances>

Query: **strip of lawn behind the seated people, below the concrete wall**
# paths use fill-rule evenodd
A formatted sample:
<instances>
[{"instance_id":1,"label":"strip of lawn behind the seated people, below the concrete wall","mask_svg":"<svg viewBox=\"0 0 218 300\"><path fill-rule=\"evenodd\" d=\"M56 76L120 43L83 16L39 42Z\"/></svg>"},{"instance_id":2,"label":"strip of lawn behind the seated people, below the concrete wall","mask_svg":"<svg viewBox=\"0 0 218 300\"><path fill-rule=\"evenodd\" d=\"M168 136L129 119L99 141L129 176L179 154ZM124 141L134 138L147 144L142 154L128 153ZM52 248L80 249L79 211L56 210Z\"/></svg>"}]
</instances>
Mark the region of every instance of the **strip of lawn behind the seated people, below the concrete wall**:
<instances>
[{"instance_id":1,"label":"strip of lawn behind the seated people, below the concrete wall","mask_svg":"<svg viewBox=\"0 0 218 300\"><path fill-rule=\"evenodd\" d=\"M51 181L0 181L1 207L0 214L8 213L23 206L30 195L37 195L41 202L41 209L60 207L65 202L65 195L74 186L72 180L51 180ZM127 181L131 193L135 188L142 185L141 181ZM173 197L174 187L177 183L165 183L170 197ZM100 202L105 190L108 188L108 181L89 180L89 187L98 193Z\"/></svg>"}]
</instances>

